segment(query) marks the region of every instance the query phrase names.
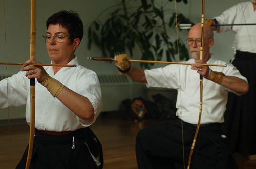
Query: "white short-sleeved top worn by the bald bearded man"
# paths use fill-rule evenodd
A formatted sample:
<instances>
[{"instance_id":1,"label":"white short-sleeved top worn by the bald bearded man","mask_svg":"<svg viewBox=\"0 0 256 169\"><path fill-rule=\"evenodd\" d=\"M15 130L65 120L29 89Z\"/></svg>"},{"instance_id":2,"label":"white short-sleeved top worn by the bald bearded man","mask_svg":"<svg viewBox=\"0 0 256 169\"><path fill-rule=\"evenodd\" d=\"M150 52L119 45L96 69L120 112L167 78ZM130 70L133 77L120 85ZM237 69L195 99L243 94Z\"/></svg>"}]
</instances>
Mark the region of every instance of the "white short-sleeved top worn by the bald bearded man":
<instances>
[{"instance_id":1,"label":"white short-sleeved top worn by the bald bearded man","mask_svg":"<svg viewBox=\"0 0 256 169\"><path fill-rule=\"evenodd\" d=\"M194 63L194 61L194 59L190 59L186 62ZM210 69L223 72L227 76L235 76L247 81L231 63L216 60L213 55L211 55L207 63L226 64L227 67L210 66ZM191 124L198 123L200 81L197 71L191 70L190 65L170 64L157 69L145 70L145 76L147 80L146 85L148 87L177 89L176 115L185 122ZM229 91L231 90L222 85L203 79L201 124L224 122L224 112L226 110Z\"/></svg>"}]
</instances>

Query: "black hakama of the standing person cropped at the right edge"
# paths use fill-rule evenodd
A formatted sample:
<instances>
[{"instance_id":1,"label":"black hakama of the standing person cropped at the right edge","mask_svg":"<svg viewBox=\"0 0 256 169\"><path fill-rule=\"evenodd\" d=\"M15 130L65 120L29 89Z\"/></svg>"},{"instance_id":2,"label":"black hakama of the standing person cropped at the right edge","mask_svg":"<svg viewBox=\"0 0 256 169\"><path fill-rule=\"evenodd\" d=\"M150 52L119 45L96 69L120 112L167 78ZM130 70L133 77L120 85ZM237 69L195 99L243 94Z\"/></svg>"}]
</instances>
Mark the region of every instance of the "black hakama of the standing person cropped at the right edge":
<instances>
[{"instance_id":1,"label":"black hakama of the standing person cropped at the right edge","mask_svg":"<svg viewBox=\"0 0 256 169\"><path fill-rule=\"evenodd\" d=\"M249 92L237 96L229 92L225 131L230 150L243 155L256 154L256 53L237 51L232 62L247 78Z\"/></svg>"}]
</instances>

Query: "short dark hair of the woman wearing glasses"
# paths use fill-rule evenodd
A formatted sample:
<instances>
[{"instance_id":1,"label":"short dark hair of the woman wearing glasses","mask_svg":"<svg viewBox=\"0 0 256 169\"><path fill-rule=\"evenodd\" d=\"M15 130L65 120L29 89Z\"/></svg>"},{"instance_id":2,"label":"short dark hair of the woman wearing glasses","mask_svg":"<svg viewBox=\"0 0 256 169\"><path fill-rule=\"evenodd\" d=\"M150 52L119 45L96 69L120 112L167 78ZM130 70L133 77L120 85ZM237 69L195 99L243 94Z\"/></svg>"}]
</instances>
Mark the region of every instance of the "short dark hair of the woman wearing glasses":
<instances>
[{"instance_id":1,"label":"short dark hair of the woman wearing glasses","mask_svg":"<svg viewBox=\"0 0 256 169\"><path fill-rule=\"evenodd\" d=\"M83 24L79 14L75 11L60 11L50 16L46 21L46 29L50 24L60 24L69 31L69 39L71 43L75 38L82 40L83 36Z\"/></svg>"}]
</instances>

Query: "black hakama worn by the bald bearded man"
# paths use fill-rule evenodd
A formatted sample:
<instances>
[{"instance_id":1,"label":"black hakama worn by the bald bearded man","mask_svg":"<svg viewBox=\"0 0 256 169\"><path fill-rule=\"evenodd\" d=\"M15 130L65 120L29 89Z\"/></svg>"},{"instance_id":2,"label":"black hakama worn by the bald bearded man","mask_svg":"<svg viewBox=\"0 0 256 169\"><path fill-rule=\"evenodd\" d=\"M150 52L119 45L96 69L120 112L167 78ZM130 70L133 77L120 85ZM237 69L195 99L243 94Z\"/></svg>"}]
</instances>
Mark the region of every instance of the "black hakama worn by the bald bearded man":
<instances>
[{"instance_id":1,"label":"black hakama worn by the bald bearded man","mask_svg":"<svg viewBox=\"0 0 256 169\"><path fill-rule=\"evenodd\" d=\"M185 168L196 125L183 122ZM190 168L237 168L229 152L222 124L201 125ZM162 122L141 130L136 138L138 168L183 169L181 123Z\"/></svg>"}]
</instances>

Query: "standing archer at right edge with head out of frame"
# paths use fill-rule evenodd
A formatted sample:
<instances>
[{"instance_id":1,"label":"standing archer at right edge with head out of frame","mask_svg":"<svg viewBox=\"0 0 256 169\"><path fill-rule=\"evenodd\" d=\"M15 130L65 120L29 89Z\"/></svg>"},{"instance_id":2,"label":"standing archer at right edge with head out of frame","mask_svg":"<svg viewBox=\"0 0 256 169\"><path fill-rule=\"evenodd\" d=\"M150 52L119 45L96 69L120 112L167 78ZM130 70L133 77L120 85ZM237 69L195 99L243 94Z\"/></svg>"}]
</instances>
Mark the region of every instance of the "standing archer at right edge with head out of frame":
<instances>
[{"instance_id":1,"label":"standing archer at right edge with head out of frame","mask_svg":"<svg viewBox=\"0 0 256 169\"><path fill-rule=\"evenodd\" d=\"M256 0L239 3L206 24L256 23ZM233 48L236 53L232 64L247 78L250 89L243 96L229 93L225 112L225 131L230 150L244 156L256 154L256 25L212 26L217 33L234 32ZM252 157L252 156L249 156Z\"/></svg>"}]
</instances>

